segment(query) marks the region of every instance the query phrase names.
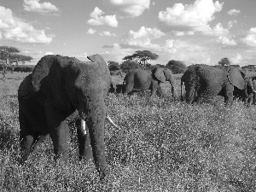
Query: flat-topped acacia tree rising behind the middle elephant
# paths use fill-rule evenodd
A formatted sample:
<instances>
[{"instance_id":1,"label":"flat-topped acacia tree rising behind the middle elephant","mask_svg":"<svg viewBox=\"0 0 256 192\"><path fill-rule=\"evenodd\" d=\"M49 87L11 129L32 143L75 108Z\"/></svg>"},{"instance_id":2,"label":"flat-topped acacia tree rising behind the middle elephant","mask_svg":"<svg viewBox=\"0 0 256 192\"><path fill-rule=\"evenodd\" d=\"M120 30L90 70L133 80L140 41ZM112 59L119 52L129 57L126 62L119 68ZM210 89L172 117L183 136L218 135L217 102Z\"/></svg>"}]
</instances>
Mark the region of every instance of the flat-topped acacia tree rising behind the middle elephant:
<instances>
[{"instance_id":1,"label":"flat-topped acacia tree rising behind the middle elephant","mask_svg":"<svg viewBox=\"0 0 256 192\"><path fill-rule=\"evenodd\" d=\"M137 50L133 55L127 55L123 58L126 61L134 61L140 65L145 66L148 60L156 60L158 55L152 53L149 50Z\"/></svg>"}]
</instances>

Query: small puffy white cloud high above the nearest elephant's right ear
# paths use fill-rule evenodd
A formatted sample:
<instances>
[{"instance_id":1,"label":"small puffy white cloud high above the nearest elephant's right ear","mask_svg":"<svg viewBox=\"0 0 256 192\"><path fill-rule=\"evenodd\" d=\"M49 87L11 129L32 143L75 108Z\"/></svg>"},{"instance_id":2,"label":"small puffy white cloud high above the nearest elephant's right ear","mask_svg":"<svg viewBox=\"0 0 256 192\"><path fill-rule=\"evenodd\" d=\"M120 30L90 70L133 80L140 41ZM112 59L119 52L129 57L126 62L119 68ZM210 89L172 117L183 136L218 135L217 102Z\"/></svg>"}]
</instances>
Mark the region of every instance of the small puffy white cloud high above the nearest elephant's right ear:
<instances>
[{"instance_id":1,"label":"small puffy white cloud high above the nearest elephant's right ear","mask_svg":"<svg viewBox=\"0 0 256 192\"><path fill-rule=\"evenodd\" d=\"M104 12L96 7L93 12L90 13L90 20L87 20L87 23L92 26L112 26L117 27L118 21L116 20L115 15L106 15L102 16Z\"/></svg>"}]
</instances>

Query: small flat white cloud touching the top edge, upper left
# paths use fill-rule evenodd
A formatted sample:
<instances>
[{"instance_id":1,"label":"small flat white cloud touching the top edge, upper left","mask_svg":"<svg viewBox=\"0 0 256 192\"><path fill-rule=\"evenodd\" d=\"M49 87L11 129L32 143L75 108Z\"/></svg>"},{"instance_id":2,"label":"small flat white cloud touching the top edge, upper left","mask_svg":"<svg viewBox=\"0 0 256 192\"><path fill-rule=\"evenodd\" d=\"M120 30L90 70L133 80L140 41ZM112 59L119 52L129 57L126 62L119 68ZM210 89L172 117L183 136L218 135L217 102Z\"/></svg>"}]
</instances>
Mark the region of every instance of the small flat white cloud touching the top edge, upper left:
<instances>
[{"instance_id":1,"label":"small flat white cloud touching the top edge, upper left","mask_svg":"<svg viewBox=\"0 0 256 192\"><path fill-rule=\"evenodd\" d=\"M29 12L35 12L42 15L47 15L51 12L58 12L59 9L51 3L39 3L40 0L24 0L23 8Z\"/></svg>"}]
</instances>

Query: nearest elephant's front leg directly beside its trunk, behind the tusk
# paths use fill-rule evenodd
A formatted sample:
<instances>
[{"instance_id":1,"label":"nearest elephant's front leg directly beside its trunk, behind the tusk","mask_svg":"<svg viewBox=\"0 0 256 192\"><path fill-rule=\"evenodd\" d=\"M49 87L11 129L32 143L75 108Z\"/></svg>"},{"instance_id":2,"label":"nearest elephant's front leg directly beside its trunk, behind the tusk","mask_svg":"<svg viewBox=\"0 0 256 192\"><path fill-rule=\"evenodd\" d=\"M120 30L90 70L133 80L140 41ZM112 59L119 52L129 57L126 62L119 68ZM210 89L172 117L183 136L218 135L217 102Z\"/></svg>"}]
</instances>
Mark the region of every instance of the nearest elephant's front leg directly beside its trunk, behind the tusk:
<instances>
[{"instance_id":1,"label":"nearest elephant's front leg directly beside its trunk, behind the tusk","mask_svg":"<svg viewBox=\"0 0 256 192\"><path fill-rule=\"evenodd\" d=\"M84 160L89 160L92 157L92 149L88 126L85 126L85 122L82 119L77 119L76 125L79 140L79 160L83 158Z\"/></svg>"}]
</instances>

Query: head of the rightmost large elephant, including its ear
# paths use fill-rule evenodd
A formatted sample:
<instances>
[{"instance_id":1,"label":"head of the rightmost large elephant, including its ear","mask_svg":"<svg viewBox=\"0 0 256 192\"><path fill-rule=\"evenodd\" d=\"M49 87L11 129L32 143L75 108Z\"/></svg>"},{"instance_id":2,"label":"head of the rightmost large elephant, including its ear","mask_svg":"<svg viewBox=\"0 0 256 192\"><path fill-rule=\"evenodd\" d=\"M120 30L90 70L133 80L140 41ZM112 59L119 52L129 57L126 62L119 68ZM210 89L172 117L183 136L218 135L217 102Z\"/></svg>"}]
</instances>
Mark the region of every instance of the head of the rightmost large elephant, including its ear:
<instances>
[{"instance_id":1,"label":"head of the rightmost large elephant, including its ear","mask_svg":"<svg viewBox=\"0 0 256 192\"><path fill-rule=\"evenodd\" d=\"M255 90L253 89L253 80L247 76L247 73L241 71L240 68L232 67L228 71L228 79L230 84L243 91L245 98L252 98Z\"/></svg>"}]
</instances>

